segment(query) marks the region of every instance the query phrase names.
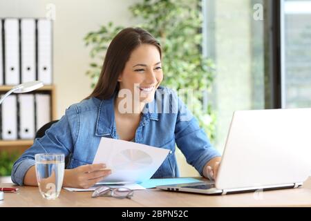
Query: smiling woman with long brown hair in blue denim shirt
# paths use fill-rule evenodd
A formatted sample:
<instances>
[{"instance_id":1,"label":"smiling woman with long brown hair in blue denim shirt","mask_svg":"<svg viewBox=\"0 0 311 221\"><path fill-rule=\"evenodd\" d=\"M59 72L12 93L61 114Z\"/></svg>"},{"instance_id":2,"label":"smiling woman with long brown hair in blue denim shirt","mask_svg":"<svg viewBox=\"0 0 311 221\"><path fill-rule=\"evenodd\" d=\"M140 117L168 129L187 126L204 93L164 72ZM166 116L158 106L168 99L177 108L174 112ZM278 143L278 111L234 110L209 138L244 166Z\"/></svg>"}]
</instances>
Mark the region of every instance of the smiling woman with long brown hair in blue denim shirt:
<instances>
[{"instance_id":1,"label":"smiling woman with long brown hair in blue denim shirt","mask_svg":"<svg viewBox=\"0 0 311 221\"><path fill-rule=\"evenodd\" d=\"M177 144L189 164L214 179L220 154L185 104L173 91L160 87L161 59L160 44L149 32L141 28L119 32L106 52L93 93L70 106L62 119L19 157L12 181L37 185L35 154L64 153L69 161L63 186L93 186L111 173L104 164L92 164L101 137L170 149L153 178L179 176L174 154Z\"/></svg>"}]
</instances>

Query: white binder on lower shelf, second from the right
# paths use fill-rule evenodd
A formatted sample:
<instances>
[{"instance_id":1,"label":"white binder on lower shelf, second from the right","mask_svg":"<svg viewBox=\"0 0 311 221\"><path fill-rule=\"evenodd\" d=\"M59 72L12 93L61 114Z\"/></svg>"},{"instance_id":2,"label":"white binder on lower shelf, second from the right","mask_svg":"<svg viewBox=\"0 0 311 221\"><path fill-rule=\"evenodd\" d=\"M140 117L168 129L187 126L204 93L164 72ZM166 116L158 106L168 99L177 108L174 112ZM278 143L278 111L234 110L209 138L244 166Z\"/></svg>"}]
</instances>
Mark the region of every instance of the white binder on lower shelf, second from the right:
<instances>
[{"instance_id":1,"label":"white binder on lower shelf, second from the right","mask_svg":"<svg viewBox=\"0 0 311 221\"><path fill-rule=\"evenodd\" d=\"M34 95L19 95L19 138L33 139L35 137L35 97Z\"/></svg>"}]
</instances>

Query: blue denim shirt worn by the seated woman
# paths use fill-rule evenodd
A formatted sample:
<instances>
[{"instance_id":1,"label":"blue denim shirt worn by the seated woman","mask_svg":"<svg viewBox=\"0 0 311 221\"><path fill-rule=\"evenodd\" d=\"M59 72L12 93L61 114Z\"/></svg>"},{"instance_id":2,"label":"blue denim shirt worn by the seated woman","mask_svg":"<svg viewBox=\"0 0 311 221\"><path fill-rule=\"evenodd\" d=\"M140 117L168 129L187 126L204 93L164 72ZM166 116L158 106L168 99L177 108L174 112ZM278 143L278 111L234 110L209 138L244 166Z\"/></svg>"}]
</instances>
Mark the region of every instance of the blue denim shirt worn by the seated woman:
<instances>
[{"instance_id":1,"label":"blue denim shirt worn by the seated woman","mask_svg":"<svg viewBox=\"0 0 311 221\"><path fill-rule=\"evenodd\" d=\"M26 150L12 168L12 181L23 185L23 177L35 165L37 153L64 153L66 169L92 164L101 137L118 139L114 99L92 97L66 109L66 114ZM175 149L185 155L189 164L202 175L209 160L220 156L213 148L197 119L173 90L159 87L155 99L144 106L135 142L169 149L169 155L152 178L178 177Z\"/></svg>"}]
</instances>

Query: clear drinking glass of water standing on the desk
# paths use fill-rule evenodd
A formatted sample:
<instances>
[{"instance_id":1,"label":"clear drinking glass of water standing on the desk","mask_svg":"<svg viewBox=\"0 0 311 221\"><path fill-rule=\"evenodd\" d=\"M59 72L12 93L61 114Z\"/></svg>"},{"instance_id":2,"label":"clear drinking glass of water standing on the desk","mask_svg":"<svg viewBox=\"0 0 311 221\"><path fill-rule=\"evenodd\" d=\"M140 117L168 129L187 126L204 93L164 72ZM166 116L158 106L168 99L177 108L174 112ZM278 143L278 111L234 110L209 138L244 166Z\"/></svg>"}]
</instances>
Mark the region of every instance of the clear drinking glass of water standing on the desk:
<instances>
[{"instance_id":1,"label":"clear drinking glass of water standing on the desk","mask_svg":"<svg viewBox=\"0 0 311 221\"><path fill-rule=\"evenodd\" d=\"M35 155L35 169L39 191L43 198L55 200L62 190L64 154L39 153Z\"/></svg>"}]
</instances>

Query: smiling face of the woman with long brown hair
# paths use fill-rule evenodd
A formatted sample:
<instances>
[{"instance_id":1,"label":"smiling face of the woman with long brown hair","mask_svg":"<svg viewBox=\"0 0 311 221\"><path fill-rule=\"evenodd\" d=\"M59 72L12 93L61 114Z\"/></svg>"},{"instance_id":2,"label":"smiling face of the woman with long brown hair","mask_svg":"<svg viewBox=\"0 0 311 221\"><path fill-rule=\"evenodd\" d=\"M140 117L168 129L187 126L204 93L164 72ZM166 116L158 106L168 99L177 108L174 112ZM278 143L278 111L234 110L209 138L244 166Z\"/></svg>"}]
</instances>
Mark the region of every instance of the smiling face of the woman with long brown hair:
<instances>
[{"instance_id":1,"label":"smiling face of the woman with long brown hair","mask_svg":"<svg viewBox=\"0 0 311 221\"><path fill-rule=\"evenodd\" d=\"M141 44L131 53L118 81L120 90L131 91L133 99L149 103L163 79L160 52L156 46Z\"/></svg>"}]
</instances>

